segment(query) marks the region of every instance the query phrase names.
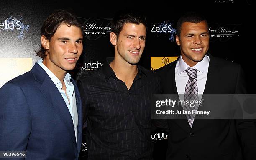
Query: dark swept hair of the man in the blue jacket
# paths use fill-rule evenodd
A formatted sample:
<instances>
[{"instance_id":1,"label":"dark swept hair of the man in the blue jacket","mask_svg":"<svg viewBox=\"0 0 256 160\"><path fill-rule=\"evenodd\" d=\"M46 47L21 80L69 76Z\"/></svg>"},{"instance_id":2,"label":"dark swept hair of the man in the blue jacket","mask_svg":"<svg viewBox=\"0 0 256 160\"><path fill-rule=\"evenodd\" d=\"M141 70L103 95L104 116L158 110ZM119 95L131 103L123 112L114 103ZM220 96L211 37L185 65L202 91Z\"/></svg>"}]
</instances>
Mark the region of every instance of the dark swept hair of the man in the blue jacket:
<instances>
[{"instance_id":1,"label":"dark swept hair of the man in the blue jacket","mask_svg":"<svg viewBox=\"0 0 256 160\"><path fill-rule=\"evenodd\" d=\"M61 23L65 23L69 27L74 25L81 28L82 31L82 23L79 22L74 13L67 10L54 10L54 12L44 21L41 28L41 36L44 35L47 40L51 40L51 37L57 31ZM46 57L46 52L48 51L41 45L40 50L36 51L36 55L44 59L44 57Z\"/></svg>"}]
</instances>

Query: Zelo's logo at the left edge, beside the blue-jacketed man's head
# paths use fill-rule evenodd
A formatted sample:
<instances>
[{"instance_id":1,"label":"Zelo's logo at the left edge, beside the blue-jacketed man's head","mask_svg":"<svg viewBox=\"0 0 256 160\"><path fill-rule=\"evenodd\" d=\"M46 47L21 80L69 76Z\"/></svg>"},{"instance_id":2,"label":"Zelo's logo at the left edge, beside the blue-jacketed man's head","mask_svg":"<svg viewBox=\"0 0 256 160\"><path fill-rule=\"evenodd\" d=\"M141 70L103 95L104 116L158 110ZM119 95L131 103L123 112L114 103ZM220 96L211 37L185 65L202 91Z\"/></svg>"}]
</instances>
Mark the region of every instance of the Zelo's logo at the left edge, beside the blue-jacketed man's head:
<instances>
[{"instance_id":1,"label":"Zelo's logo at the left edge, beside the blue-jacketed man's head","mask_svg":"<svg viewBox=\"0 0 256 160\"><path fill-rule=\"evenodd\" d=\"M24 25L22 22L22 17L12 17L7 18L3 22L0 23L0 29L2 30L18 30L20 34L17 36L20 40L24 39L24 35L28 32L29 25Z\"/></svg>"}]
</instances>

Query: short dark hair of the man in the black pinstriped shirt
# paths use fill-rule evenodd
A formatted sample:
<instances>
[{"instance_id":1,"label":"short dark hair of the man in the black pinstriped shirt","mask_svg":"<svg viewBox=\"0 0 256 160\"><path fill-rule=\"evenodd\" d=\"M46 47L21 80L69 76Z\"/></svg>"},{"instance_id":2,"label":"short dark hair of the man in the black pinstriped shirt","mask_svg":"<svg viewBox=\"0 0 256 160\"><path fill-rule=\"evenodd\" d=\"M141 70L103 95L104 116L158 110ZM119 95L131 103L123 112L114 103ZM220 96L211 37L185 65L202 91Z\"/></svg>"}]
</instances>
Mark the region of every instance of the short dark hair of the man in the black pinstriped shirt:
<instances>
[{"instance_id":1,"label":"short dark hair of the man in the black pinstriped shirt","mask_svg":"<svg viewBox=\"0 0 256 160\"><path fill-rule=\"evenodd\" d=\"M117 39L118 39L119 33L121 32L121 30L123 29L123 26L126 23L133 23L137 25L142 23L143 25L145 25L147 30L148 22L147 22L146 16L142 14L140 11L129 10L129 9L119 10L118 12L115 13L111 21L111 32L114 32L116 34Z\"/></svg>"}]
</instances>

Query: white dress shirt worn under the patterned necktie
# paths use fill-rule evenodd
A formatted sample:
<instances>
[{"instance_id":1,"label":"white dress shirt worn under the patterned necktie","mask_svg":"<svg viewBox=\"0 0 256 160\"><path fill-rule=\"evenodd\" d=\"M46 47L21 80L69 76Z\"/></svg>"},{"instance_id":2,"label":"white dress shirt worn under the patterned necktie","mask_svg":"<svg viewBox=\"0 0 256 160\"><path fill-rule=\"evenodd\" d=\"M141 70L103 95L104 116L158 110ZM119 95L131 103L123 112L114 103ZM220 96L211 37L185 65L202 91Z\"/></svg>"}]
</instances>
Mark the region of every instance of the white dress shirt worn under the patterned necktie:
<instances>
[{"instance_id":1,"label":"white dress shirt worn under the patterned necktie","mask_svg":"<svg viewBox=\"0 0 256 160\"><path fill-rule=\"evenodd\" d=\"M205 90L205 83L207 80L208 68L209 68L210 57L205 55L202 61L198 62L194 67L197 70L197 89L199 100L202 98L202 94ZM176 63L175 67L175 82L177 87L177 92L179 94L179 99L184 100L184 93L187 81L189 80L189 76L185 71L189 65L182 59L180 56L179 60Z\"/></svg>"}]
</instances>

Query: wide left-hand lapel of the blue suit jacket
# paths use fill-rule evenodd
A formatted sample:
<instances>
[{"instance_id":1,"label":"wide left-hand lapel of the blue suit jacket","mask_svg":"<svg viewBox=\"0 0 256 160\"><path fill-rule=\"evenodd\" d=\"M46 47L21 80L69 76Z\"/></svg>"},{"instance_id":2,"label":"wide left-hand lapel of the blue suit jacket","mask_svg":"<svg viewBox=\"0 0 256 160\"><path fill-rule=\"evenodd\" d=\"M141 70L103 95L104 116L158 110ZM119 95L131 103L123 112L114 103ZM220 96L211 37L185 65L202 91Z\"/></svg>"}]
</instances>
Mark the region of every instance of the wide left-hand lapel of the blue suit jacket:
<instances>
[{"instance_id":1,"label":"wide left-hand lapel of the blue suit jacket","mask_svg":"<svg viewBox=\"0 0 256 160\"><path fill-rule=\"evenodd\" d=\"M40 90L46 98L46 101L54 110L55 115L58 116L67 127L73 143L77 145L73 120L58 88L54 85L54 82L51 80L49 75L47 75L47 73L37 63L34 65L31 71L33 72L35 79L42 83Z\"/></svg>"}]
</instances>

